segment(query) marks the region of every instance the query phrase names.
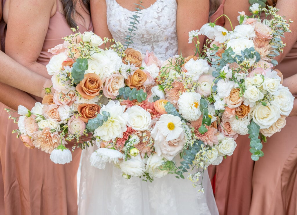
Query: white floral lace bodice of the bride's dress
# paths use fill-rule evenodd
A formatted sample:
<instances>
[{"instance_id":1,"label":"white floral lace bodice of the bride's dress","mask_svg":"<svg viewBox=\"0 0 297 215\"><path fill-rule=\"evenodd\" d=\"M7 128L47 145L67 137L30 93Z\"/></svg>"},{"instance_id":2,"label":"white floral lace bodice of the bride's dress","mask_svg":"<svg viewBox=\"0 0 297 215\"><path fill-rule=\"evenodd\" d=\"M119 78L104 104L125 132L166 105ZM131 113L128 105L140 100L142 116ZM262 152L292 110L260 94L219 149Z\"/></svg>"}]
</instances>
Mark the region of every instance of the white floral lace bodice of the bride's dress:
<instances>
[{"instance_id":1,"label":"white floral lace bodice of the bride's dress","mask_svg":"<svg viewBox=\"0 0 297 215\"><path fill-rule=\"evenodd\" d=\"M113 38L124 44L129 17L135 14L121 7L116 0L106 0L107 25ZM157 0L150 7L142 9L138 18L138 30L130 47L145 54L154 51L161 60L177 54L176 0Z\"/></svg>"}]
</instances>

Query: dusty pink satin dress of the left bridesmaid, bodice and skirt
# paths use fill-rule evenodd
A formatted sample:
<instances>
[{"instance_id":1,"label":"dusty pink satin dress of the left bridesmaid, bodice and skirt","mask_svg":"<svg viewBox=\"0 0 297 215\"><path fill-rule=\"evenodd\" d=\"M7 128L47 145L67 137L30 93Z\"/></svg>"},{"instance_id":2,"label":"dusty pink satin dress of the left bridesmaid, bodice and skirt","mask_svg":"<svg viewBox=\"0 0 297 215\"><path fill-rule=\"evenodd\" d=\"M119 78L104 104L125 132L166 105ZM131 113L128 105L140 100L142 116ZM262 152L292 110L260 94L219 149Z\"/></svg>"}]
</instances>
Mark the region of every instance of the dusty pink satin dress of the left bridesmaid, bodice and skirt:
<instances>
[{"instance_id":1,"label":"dusty pink satin dress of the left bridesmaid, bodice and skirt","mask_svg":"<svg viewBox=\"0 0 297 215\"><path fill-rule=\"evenodd\" d=\"M93 30L91 23L88 29L79 23L78 26L81 32ZM65 16L57 11L50 18L37 62L46 65L51 56L48 49L63 43L61 38L72 33ZM75 150L71 163L58 165L49 159L49 154L27 149L16 134L12 134L18 127L8 119L5 107L0 103L0 214L76 215L81 150ZM71 144L68 145L71 148Z\"/></svg>"}]
</instances>

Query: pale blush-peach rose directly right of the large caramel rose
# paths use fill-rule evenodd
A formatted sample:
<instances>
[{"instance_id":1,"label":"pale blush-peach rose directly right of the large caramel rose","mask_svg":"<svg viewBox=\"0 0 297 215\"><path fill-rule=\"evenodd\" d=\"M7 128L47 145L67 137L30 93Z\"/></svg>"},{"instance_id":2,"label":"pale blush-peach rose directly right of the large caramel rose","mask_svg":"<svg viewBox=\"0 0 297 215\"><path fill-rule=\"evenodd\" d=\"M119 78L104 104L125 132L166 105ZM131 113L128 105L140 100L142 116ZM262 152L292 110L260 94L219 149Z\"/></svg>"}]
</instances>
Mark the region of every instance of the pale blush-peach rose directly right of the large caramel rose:
<instances>
[{"instance_id":1,"label":"pale blush-peach rose directly right of the large caramel rose","mask_svg":"<svg viewBox=\"0 0 297 215\"><path fill-rule=\"evenodd\" d=\"M116 98L119 95L119 89L125 87L124 77L120 74L112 74L105 79L103 94L106 98Z\"/></svg>"}]
</instances>

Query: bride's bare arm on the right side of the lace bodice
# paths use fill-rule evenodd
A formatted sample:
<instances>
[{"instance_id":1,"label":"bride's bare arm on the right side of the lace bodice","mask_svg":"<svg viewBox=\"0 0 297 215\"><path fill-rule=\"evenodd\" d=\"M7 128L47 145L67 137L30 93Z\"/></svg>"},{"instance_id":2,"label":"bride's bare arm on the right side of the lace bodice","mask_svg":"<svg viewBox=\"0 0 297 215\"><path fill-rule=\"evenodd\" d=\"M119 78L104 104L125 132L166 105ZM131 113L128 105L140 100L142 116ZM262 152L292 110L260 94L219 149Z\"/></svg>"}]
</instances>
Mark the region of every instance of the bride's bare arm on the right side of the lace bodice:
<instances>
[{"instance_id":1,"label":"bride's bare arm on the right side of the lace bodice","mask_svg":"<svg viewBox=\"0 0 297 215\"><path fill-rule=\"evenodd\" d=\"M178 54L184 57L194 54L194 44L189 44L189 31L200 29L208 22L209 1L177 0L176 30ZM200 48L204 36L199 36Z\"/></svg>"}]
</instances>

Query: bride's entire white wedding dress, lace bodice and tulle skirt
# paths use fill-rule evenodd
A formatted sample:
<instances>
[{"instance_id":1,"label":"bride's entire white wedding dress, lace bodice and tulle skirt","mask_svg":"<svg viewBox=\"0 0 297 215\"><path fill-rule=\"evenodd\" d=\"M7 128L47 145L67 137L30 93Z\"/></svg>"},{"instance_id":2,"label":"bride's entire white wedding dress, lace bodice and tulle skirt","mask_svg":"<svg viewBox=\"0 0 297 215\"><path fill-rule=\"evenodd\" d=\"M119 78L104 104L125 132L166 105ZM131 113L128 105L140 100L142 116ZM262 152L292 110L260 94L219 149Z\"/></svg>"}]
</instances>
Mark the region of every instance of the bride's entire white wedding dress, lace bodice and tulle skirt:
<instances>
[{"instance_id":1,"label":"bride's entire white wedding dress, lace bodice and tulle skirt","mask_svg":"<svg viewBox=\"0 0 297 215\"><path fill-rule=\"evenodd\" d=\"M135 13L116 0L106 0L106 4L108 28L113 38L123 43L129 17ZM141 10L133 47L142 53L154 51L160 60L176 55L176 9L176 0L157 0ZM219 214L207 171L203 176L204 193L198 192L190 180L176 179L175 175L156 178L152 183L137 177L127 180L112 164L107 163L105 170L91 167L89 157L96 149L88 148L82 154L79 215ZM180 161L178 156L176 160Z\"/></svg>"}]
</instances>

